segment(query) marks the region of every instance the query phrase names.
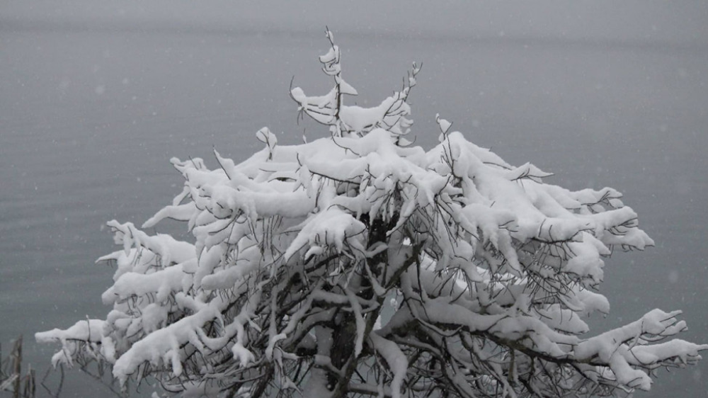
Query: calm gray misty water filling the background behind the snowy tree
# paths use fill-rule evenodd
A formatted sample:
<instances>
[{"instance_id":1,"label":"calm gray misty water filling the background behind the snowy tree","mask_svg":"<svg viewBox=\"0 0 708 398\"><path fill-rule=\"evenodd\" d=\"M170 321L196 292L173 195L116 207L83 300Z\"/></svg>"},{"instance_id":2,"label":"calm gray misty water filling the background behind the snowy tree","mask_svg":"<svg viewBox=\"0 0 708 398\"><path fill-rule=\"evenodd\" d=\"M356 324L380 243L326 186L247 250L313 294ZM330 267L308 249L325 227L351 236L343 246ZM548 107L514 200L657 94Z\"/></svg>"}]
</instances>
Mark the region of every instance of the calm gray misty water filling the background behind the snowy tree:
<instances>
[{"instance_id":1,"label":"calm gray misty water filling the background behind the snowy tree","mask_svg":"<svg viewBox=\"0 0 708 398\"><path fill-rule=\"evenodd\" d=\"M287 96L292 76L329 89L316 62L326 24L360 105L423 62L417 144L435 144L439 112L552 183L625 194L657 245L607 261L612 312L594 331L683 309L682 338L708 343L706 6L258 4L0 2L3 348L24 334L43 374L56 347L36 331L105 317L113 270L93 261L117 248L103 225L142 223L181 191L170 157L245 159L264 125L285 144L326 135L297 125ZM659 375L636 397L708 396L708 362ZM70 373L62 397L105 394Z\"/></svg>"}]
</instances>

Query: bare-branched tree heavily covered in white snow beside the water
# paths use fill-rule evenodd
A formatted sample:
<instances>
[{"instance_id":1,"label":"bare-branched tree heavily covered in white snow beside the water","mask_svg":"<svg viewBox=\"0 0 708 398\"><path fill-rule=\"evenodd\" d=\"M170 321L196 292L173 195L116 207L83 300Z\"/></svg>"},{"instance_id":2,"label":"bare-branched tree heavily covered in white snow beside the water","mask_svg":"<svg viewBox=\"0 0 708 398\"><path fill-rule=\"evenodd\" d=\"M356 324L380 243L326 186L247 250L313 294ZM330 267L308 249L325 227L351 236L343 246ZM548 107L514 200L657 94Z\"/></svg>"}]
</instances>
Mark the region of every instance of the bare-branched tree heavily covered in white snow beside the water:
<instances>
[{"instance_id":1,"label":"bare-branched tree heavily covered in white snow beside the water","mask_svg":"<svg viewBox=\"0 0 708 398\"><path fill-rule=\"evenodd\" d=\"M697 363L708 346L665 341L678 311L588 336L610 310L603 258L653 244L619 192L544 183L439 117L440 143L411 147L420 68L379 106L346 106L327 38L334 88L290 93L331 136L281 146L264 127L240 164L172 159L183 191L142 228L171 218L193 239L108 222L113 310L38 333L62 344L52 363L186 397L312 398L621 395Z\"/></svg>"}]
</instances>

